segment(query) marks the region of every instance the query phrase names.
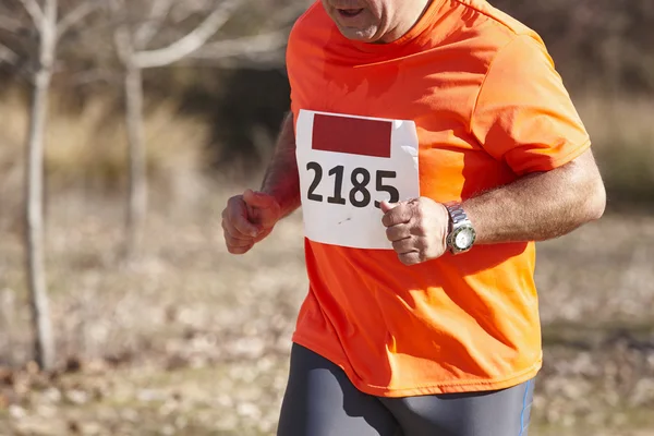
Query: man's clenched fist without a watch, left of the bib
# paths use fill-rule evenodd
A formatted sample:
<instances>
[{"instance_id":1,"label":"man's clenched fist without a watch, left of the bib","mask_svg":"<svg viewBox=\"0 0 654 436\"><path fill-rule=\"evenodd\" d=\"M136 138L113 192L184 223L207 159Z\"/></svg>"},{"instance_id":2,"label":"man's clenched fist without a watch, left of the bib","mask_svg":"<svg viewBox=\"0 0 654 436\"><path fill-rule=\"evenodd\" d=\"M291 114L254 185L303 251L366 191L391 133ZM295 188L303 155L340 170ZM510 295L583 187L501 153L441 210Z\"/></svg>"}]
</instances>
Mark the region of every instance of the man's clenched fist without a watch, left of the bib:
<instances>
[{"instance_id":1,"label":"man's clenched fist without a watch, left of the bib","mask_svg":"<svg viewBox=\"0 0 654 436\"><path fill-rule=\"evenodd\" d=\"M222 230L227 250L245 254L272 231L281 219L281 207L271 195L246 190L227 202L222 210Z\"/></svg>"}]
</instances>

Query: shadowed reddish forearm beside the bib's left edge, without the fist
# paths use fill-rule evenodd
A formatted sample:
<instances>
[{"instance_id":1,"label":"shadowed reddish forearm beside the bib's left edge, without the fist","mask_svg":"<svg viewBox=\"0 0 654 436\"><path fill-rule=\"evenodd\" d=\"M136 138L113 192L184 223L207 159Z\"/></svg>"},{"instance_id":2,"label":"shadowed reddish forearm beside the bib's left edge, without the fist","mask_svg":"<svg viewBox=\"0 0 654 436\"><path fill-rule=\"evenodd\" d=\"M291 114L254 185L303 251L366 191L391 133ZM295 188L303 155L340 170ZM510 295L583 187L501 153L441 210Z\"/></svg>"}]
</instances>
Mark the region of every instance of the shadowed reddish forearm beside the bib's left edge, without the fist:
<instances>
[{"instance_id":1,"label":"shadowed reddish forearm beside the bib's left edge, without the fist","mask_svg":"<svg viewBox=\"0 0 654 436\"><path fill-rule=\"evenodd\" d=\"M262 192L272 195L281 206L282 217L300 207L300 177L295 160L293 114L283 120L272 159L268 164Z\"/></svg>"}]
</instances>

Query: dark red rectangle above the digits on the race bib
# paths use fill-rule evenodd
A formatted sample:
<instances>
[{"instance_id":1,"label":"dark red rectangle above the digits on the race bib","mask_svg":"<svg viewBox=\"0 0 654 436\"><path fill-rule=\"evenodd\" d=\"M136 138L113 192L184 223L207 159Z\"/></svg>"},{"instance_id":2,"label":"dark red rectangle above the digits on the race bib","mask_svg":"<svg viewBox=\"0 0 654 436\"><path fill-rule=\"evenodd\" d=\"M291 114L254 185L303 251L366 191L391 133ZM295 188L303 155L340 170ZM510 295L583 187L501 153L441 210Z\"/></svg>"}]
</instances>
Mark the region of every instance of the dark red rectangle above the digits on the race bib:
<instances>
[{"instance_id":1,"label":"dark red rectangle above the digits on the race bib","mask_svg":"<svg viewBox=\"0 0 654 436\"><path fill-rule=\"evenodd\" d=\"M390 121L316 113L312 148L373 157L390 157Z\"/></svg>"}]
</instances>

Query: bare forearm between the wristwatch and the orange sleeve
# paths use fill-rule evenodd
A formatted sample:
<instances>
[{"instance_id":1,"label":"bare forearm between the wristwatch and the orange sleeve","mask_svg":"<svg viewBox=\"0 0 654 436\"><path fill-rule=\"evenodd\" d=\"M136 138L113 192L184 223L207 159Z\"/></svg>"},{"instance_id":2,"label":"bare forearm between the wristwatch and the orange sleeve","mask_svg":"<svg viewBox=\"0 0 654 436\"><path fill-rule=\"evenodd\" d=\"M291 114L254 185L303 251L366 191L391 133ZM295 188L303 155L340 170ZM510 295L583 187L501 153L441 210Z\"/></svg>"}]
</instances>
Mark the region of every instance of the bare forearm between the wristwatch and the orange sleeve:
<instances>
[{"instance_id":1,"label":"bare forearm between the wristwatch and the orange sleeve","mask_svg":"<svg viewBox=\"0 0 654 436\"><path fill-rule=\"evenodd\" d=\"M561 237L604 213L606 195L588 153L553 171L526 175L463 204L477 244Z\"/></svg>"}]
</instances>

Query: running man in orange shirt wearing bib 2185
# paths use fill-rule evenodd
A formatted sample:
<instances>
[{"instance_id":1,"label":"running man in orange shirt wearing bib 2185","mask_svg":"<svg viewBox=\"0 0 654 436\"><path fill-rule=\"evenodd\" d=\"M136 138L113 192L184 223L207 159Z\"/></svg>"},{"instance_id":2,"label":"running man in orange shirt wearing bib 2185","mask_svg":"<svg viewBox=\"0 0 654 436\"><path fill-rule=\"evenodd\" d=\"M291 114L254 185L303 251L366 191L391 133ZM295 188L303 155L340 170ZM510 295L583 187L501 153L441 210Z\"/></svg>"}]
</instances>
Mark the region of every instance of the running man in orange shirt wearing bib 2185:
<instances>
[{"instance_id":1,"label":"running man in orange shirt wearing bib 2185","mask_svg":"<svg viewBox=\"0 0 654 436\"><path fill-rule=\"evenodd\" d=\"M310 291L280 436L526 435L534 241L598 219L590 138L541 38L484 0L323 0L244 254L302 205Z\"/></svg>"}]
</instances>

